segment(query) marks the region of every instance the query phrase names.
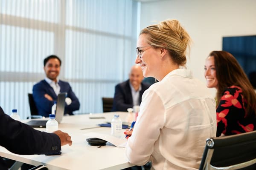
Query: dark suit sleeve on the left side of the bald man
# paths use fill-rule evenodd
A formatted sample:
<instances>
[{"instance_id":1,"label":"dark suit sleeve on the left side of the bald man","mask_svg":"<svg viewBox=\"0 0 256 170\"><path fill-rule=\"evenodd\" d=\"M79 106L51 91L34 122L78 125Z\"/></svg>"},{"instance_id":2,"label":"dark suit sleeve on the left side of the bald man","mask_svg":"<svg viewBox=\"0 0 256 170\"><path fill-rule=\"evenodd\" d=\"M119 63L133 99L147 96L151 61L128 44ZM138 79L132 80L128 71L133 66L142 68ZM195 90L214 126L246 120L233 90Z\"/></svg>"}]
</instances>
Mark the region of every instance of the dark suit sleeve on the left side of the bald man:
<instances>
[{"instance_id":1,"label":"dark suit sleeve on the left side of the bald man","mask_svg":"<svg viewBox=\"0 0 256 170\"><path fill-rule=\"evenodd\" d=\"M120 84L117 84L115 87L115 95L113 99L113 108L111 111L121 111L121 112L127 112L128 108L132 108L133 104L126 104L125 103L125 91L122 89ZM132 98L131 98L132 101Z\"/></svg>"}]
</instances>

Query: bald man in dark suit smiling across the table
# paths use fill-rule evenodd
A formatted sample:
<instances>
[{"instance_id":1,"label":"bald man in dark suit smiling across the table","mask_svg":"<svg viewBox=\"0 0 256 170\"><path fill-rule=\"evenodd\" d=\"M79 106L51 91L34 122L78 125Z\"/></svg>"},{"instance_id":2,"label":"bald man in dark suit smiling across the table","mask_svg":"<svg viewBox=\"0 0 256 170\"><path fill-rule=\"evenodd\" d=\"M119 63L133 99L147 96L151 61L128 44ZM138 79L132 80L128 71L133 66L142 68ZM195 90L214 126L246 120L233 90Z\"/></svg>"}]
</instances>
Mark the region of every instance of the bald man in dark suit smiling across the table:
<instances>
[{"instance_id":1,"label":"bald man in dark suit smiling across the table","mask_svg":"<svg viewBox=\"0 0 256 170\"><path fill-rule=\"evenodd\" d=\"M129 80L117 84L115 87L112 112L126 112L128 108L140 105L143 92L150 86L142 82L143 78L141 67L139 65L132 66Z\"/></svg>"}]
</instances>

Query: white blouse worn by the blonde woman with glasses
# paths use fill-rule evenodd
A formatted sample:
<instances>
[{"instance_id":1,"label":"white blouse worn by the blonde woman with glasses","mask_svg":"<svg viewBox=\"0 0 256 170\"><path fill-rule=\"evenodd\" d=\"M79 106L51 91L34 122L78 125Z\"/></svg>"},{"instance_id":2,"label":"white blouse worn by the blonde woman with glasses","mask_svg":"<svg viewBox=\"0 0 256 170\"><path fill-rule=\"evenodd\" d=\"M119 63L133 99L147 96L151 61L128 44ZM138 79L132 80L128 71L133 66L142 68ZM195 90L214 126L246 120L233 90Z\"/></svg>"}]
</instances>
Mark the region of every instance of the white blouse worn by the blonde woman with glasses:
<instances>
[{"instance_id":1,"label":"white blouse worn by the blonde woman with glasses","mask_svg":"<svg viewBox=\"0 0 256 170\"><path fill-rule=\"evenodd\" d=\"M151 160L155 170L198 170L215 136L215 100L188 69L175 69L143 93L126 156L137 165Z\"/></svg>"}]
</instances>

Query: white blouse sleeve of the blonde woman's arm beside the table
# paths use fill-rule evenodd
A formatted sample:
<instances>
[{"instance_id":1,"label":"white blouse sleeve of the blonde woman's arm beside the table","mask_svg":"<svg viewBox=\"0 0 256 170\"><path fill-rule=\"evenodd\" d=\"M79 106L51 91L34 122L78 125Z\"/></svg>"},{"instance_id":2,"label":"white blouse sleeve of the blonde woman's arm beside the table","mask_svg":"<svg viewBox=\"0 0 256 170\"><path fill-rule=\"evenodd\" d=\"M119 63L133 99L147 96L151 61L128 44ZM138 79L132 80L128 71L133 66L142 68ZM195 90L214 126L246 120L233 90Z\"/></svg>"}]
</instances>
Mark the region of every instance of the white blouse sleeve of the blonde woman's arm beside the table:
<instances>
[{"instance_id":1,"label":"white blouse sleeve of the blonde woman's arm beside the table","mask_svg":"<svg viewBox=\"0 0 256 170\"><path fill-rule=\"evenodd\" d=\"M126 145L126 156L131 164L146 164L154 150L154 143L164 125L165 108L156 92L143 94L140 112L133 133Z\"/></svg>"}]
</instances>

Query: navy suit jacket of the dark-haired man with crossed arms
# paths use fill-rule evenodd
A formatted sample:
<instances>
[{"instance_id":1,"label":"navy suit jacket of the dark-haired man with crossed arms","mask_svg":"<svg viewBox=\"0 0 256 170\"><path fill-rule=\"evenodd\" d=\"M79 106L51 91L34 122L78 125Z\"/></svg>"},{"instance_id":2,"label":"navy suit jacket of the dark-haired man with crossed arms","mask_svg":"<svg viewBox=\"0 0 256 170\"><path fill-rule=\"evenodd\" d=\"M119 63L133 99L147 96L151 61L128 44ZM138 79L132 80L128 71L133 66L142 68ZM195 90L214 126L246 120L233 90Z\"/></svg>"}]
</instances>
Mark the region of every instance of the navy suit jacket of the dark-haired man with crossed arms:
<instances>
[{"instance_id":1,"label":"navy suit jacket of the dark-haired man with crossed arms","mask_svg":"<svg viewBox=\"0 0 256 170\"><path fill-rule=\"evenodd\" d=\"M73 111L79 110L79 100L75 93L72 91L68 82L60 80L58 85L61 87L60 92L67 92L67 97L72 100L70 105L67 106L66 104L65 114L73 115ZM57 95L55 94L53 88L47 83L47 81L42 80L33 86L33 98L38 109L38 115L49 117L49 114L52 112L52 105L54 104L54 101L49 101L47 98L45 98L45 94L50 95L54 101L57 100Z\"/></svg>"}]
</instances>

